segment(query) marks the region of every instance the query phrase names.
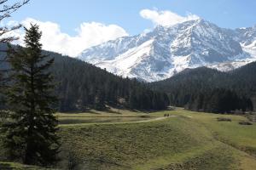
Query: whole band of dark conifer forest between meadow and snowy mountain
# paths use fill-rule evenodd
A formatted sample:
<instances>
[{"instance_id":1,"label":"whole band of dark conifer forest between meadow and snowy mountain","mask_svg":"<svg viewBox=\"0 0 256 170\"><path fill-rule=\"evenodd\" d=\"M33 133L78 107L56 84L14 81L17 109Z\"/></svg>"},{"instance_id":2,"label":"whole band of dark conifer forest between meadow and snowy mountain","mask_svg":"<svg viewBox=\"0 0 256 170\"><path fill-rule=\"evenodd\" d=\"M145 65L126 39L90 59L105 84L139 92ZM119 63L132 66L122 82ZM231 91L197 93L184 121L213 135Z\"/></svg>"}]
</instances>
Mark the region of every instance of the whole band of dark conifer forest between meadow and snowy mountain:
<instances>
[{"instance_id":1,"label":"whole band of dark conifer forest between meadow and snowy mountain","mask_svg":"<svg viewBox=\"0 0 256 170\"><path fill-rule=\"evenodd\" d=\"M255 111L255 62L230 72L207 67L186 69L164 81L147 84L115 76L79 59L53 52L44 54L55 59L50 71L55 77L58 111L102 110L106 105L162 110L169 104L191 111Z\"/></svg>"}]
</instances>

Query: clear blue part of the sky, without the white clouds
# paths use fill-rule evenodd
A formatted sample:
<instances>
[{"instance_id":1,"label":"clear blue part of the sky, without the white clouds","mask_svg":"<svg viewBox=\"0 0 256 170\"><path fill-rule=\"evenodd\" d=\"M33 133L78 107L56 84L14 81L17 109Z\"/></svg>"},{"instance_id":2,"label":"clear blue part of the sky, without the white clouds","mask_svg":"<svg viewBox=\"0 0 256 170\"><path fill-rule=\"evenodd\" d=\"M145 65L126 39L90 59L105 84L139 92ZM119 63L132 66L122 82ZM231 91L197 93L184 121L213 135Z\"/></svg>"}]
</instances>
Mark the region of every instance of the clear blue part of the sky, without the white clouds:
<instances>
[{"instance_id":1,"label":"clear blue part of the sky, without the white clouds","mask_svg":"<svg viewBox=\"0 0 256 170\"><path fill-rule=\"evenodd\" d=\"M218 26L236 28L256 24L255 0L31 0L13 14L14 20L32 17L53 21L61 30L74 34L82 22L116 24L134 35L152 27L139 12L143 8L196 14Z\"/></svg>"}]
</instances>

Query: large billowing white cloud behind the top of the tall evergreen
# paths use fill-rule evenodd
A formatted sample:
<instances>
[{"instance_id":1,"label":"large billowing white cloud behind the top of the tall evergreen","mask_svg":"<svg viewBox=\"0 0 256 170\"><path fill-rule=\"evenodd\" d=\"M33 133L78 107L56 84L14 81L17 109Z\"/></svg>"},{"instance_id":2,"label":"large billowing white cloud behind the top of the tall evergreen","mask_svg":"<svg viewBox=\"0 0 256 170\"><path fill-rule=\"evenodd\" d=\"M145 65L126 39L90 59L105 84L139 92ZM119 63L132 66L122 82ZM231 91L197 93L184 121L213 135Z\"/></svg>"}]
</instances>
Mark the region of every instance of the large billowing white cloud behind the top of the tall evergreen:
<instances>
[{"instance_id":1,"label":"large billowing white cloud behind the top of the tall evergreen","mask_svg":"<svg viewBox=\"0 0 256 170\"><path fill-rule=\"evenodd\" d=\"M43 32L41 43L45 50L54 51L61 54L67 54L75 57L85 48L98 45L108 40L113 40L118 37L128 36L127 32L116 25L104 25L98 22L82 23L76 29L77 35L70 36L61 31L61 27L54 22L42 22L28 18L23 20L23 26L29 27L30 23L38 24L40 31ZM16 36L19 35L18 43L22 45L23 31L13 32Z\"/></svg>"}]
</instances>

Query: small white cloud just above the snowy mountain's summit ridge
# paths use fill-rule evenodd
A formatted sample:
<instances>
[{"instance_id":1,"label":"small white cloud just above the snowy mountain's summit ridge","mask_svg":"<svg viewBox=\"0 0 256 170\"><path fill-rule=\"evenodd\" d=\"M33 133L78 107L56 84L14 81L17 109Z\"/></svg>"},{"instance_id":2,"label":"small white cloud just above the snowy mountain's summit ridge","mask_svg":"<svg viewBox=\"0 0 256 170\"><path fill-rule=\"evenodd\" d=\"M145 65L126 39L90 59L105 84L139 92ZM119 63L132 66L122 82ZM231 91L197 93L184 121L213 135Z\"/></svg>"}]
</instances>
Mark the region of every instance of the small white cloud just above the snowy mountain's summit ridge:
<instances>
[{"instance_id":1,"label":"small white cloud just above the snowy mountain's summit ridge","mask_svg":"<svg viewBox=\"0 0 256 170\"><path fill-rule=\"evenodd\" d=\"M199 17L195 14L187 14L187 16L181 16L169 10L159 11L157 9L143 9L140 11L140 15L144 19L151 20L154 25L160 26L173 26L177 23L182 23L187 20L199 19Z\"/></svg>"}]
</instances>

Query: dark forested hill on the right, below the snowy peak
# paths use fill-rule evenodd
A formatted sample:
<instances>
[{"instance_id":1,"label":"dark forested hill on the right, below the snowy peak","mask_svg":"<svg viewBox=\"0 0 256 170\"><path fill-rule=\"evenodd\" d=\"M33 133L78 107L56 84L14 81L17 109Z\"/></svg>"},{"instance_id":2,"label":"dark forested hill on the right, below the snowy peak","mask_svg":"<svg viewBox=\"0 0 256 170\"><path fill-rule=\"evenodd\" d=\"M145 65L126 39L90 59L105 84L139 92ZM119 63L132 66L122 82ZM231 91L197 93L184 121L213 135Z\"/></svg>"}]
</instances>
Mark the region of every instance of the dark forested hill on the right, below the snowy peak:
<instances>
[{"instance_id":1,"label":"dark forested hill on the right, below the snowy peak","mask_svg":"<svg viewBox=\"0 0 256 170\"><path fill-rule=\"evenodd\" d=\"M167 93L171 105L191 111L256 111L255 72L255 62L230 72L206 67L187 69L164 81L153 82L151 87Z\"/></svg>"}]
</instances>

